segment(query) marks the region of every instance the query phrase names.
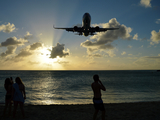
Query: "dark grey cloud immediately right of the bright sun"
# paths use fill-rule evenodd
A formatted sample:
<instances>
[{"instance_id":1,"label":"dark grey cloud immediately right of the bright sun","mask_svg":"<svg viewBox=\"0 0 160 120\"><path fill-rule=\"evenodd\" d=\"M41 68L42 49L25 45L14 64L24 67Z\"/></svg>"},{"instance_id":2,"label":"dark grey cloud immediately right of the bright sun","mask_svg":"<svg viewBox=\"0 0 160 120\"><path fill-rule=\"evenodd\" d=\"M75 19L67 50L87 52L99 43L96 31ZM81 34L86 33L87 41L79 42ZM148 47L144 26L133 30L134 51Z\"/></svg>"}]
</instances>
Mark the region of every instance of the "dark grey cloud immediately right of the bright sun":
<instances>
[{"instance_id":1,"label":"dark grey cloud immediately right of the bright sun","mask_svg":"<svg viewBox=\"0 0 160 120\"><path fill-rule=\"evenodd\" d=\"M57 43L55 47L52 47L50 58L65 57L69 55L69 50L64 51L64 44Z\"/></svg>"}]
</instances>

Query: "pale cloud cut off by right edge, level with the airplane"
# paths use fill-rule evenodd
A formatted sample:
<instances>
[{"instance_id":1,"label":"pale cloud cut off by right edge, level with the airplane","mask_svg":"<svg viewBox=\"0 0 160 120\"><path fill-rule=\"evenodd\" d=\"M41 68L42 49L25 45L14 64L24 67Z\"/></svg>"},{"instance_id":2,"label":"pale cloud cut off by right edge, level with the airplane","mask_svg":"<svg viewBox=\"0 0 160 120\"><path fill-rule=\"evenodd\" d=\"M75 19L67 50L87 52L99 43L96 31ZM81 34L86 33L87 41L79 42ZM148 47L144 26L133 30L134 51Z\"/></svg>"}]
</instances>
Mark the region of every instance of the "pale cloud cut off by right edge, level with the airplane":
<instances>
[{"instance_id":1,"label":"pale cloud cut off by right edge, level with the airplane","mask_svg":"<svg viewBox=\"0 0 160 120\"><path fill-rule=\"evenodd\" d=\"M160 30L159 32L156 32L155 30L152 30L151 32L151 45L158 44L160 42Z\"/></svg>"}]
</instances>

